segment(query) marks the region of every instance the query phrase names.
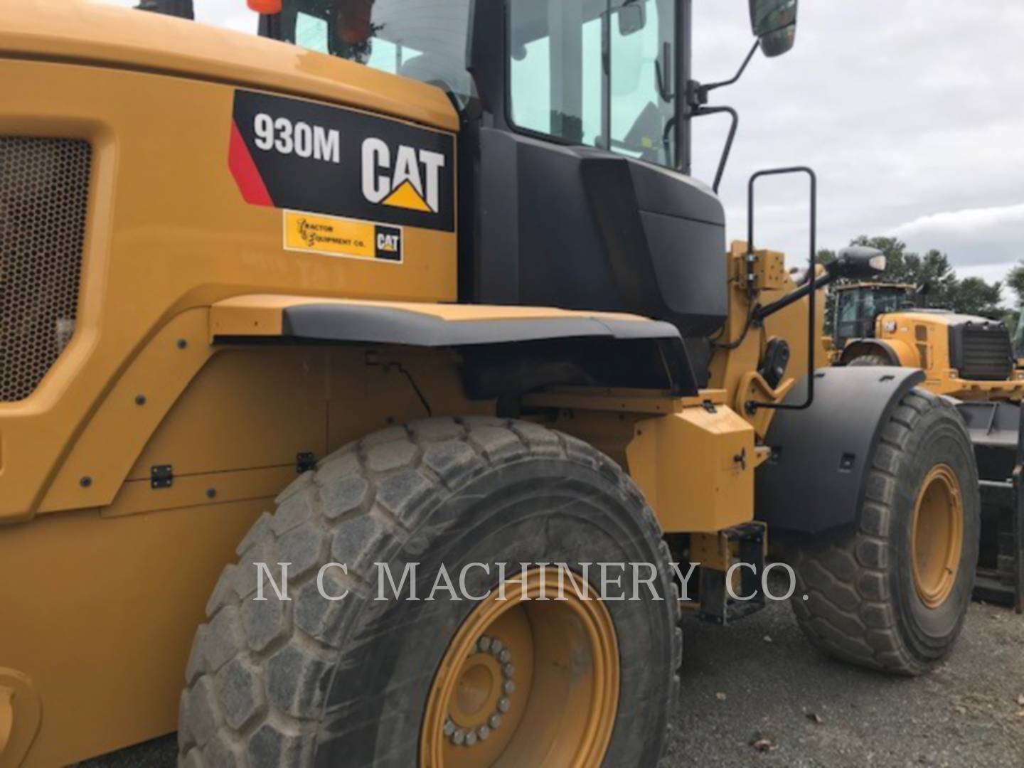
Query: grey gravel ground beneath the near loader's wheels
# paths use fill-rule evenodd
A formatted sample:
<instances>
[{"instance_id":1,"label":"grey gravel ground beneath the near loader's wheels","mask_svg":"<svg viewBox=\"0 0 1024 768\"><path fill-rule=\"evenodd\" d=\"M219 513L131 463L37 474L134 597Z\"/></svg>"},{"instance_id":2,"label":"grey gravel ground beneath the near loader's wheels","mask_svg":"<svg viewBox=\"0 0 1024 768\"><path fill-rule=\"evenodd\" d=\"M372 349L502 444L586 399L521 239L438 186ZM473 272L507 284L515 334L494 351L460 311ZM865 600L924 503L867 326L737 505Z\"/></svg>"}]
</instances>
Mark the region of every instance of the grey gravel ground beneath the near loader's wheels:
<instances>
[{"instance_id":1,"label":"grey gravel ground beneath the near loader's wheels","mask_svg":"<svg viewBox=\"0 0 1024 768\"><path fill-rule=\"evenodd\" d=\"M683 701L659 768L1024 766L1024 616L1004 608L972 605L952 657L916 679L825 658L784 604L726 629L687 620L683 632ZM171 768L174 744L79 766Z\"/></svg>"}]
</instances>

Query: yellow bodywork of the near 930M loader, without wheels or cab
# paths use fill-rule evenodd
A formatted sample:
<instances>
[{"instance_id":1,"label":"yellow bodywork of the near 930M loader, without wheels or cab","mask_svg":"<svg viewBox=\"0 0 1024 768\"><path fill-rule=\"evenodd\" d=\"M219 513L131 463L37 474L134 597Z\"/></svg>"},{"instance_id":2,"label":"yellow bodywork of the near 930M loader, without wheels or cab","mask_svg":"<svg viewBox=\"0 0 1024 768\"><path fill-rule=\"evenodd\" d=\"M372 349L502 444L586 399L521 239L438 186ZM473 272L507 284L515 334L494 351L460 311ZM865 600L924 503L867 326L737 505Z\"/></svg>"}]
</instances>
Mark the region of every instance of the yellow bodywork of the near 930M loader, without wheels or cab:
<instances>
[{"instance_id":1,"label":"yellow bodywork of the near 930M loader, without wheels or cab","mask_svg":"<svg viewBox=\"0 0 1024 768\"><path fill-rule=\"evenodd\" d=\"M207 595L297 457L424 417L425 402L433 415L495 412L463 393L449 349L214 337L272 338L283 308L312 298L445 323L600 315L445 303L453 232L409 227L400 266L283 258L281 211L246 205L225 170L238 86L454 135L435 88L150 14L35 2L0 9L0 134L93 148L74 338L28 399L0 403L0 767L55 766L174 730ZM723 256L730 275L744 255L737 244ZM755 271L769 300L794 288L781 254L759 253ZM749 314L731 283L723 343ZM715 534L753 519L771 413L742 403L779 401L803 375L795 362L773 389L756 371L773 337L807 358L806 312L798 302L716 352L697 397L559 389L527 404L620 461L666 531ZM156 466L172 466L173 482L155 483Z\"/></svg>"}]
</instances>

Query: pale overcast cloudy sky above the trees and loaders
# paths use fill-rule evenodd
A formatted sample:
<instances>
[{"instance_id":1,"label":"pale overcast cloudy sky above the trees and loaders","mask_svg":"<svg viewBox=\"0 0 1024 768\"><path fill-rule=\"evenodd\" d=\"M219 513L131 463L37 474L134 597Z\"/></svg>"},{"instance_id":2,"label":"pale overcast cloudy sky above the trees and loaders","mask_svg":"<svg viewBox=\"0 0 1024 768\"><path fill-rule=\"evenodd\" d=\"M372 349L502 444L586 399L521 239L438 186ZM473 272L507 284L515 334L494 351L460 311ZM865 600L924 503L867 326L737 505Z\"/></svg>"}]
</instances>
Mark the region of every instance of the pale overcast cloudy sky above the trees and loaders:
<instances>
[{"instance_id":1,"label":"pale overcast cloudy sky above the trees and loaders","mask_svg":"<svg viewBox=\"0 0 1024 768\"><path fill-rule=\"evenodd\" d=\"M106 0L132 5L135 0ZM732 75L752 42L745 0L696 0L695 77ZM961 276L1000 280L1024 258L1024 0L803 0L794 50L760 54L715 103L740 111L722 196L745 237L746 178L810 165L819 245L896 234L949 254ZM245 0L196 0L200 20L255 30ZM711 180L727 118L695 128ZM807 254L807 185L759 187L758 245ZM1009 295L1005 294L1009 299Z\"/></svg>"}]
</instances>

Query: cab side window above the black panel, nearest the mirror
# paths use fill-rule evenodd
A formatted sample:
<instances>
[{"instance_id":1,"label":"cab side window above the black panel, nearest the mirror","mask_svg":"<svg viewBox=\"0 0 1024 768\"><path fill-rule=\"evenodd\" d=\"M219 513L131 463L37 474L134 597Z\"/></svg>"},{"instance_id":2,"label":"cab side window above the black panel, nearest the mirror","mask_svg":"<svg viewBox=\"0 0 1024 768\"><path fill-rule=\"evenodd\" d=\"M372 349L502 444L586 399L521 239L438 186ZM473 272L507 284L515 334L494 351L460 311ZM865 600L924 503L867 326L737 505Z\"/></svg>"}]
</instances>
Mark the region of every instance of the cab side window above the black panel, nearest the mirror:
<instances>
[{"instance_id":1,"label":"cab side window above the black panel, nearest the mirror","mask_svg":"<svg viewBox=\"0 0 1024 768\"><path fill-rule=\"evenodd\" d=\"M671 166L676 3L511 0L511 121Z\"/></svg>"}]
</instances>

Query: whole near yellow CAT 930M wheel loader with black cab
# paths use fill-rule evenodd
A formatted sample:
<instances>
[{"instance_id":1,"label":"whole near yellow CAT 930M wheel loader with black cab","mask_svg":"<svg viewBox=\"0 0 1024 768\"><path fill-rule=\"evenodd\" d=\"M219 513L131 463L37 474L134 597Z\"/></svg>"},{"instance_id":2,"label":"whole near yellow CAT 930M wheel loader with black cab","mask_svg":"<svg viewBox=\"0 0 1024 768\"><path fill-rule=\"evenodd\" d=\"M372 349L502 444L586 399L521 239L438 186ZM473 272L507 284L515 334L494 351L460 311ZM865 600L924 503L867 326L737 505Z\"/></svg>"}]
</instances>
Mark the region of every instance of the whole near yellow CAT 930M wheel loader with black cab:
<instances>
[{"instance_id":1,"label":"whole near yellow CAT 930M wheel loader with black cab","mask_svg":"<svg viewBox=\"0 0 1024 768\"><path fill-rule=\"evenodd\" d=\"M3 766L651 766L767 536L816 646L949 652L970 438L826 367L874 254L726 250L689 0L254 4L0 7Z\"/></svg>"}]
</instances>

